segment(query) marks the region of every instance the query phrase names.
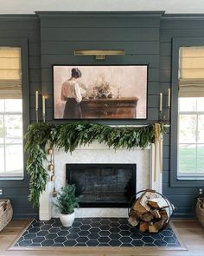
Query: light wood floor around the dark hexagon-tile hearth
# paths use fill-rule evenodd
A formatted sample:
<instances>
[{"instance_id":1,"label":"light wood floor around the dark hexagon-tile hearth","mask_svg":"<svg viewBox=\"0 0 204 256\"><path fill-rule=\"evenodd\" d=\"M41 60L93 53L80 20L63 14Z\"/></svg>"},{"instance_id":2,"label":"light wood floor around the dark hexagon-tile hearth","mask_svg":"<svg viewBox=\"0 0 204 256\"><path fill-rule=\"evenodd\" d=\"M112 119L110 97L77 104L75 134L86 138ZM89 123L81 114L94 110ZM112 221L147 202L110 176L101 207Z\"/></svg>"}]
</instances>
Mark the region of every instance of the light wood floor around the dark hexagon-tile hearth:
<instances>
[{"instance_id":1,"label":"light wood floor around the dark hexagon-tile hearth","mask_svg":"<svg viewBox=\"0 0 204 256\"><path fill-rule=\"evenodd\" d=\"M175 232L183 243L183 249L162 249L153 247L49 247L32 250L7 250L17 236L27 226L28 220L15 220L0 233L0 255L6 256L44 256L44 255L97 255L97 256L204 256L204 228L195 220L173 220Z\"/></svg>"}]
</instances>

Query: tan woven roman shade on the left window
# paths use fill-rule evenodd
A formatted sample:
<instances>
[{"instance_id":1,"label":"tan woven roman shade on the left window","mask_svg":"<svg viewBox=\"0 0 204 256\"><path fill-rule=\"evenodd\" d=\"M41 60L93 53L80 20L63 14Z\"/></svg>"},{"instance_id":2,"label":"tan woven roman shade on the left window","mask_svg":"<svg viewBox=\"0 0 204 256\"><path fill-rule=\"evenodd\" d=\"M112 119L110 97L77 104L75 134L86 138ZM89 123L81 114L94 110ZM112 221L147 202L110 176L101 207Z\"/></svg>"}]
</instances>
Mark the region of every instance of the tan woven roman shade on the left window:
<instances>
[{"instance_id":1,"label":"tan woven roman shade on the left window","mask_svg":"<svg viewBox=\"0 0 204 256\"><path fill-rule=\"evenodd\" d=\"M21 49L0 47L0 99L22 98Z\"/></svg>"}]
</instances>

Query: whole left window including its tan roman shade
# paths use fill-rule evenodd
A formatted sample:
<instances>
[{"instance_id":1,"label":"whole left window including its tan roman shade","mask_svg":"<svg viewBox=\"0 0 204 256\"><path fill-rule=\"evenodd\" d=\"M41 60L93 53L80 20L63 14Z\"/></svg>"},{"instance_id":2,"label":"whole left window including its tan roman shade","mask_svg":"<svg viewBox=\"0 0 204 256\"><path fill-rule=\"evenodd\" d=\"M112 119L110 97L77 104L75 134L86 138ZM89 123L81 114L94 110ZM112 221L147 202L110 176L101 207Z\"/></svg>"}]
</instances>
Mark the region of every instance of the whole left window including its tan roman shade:
<instances>
[{"instance_id":1,"label":"whole left window including its tan roman shade","mask_svg":"<svg viewBox=\"0 0 204 256\"><path fill-rule=\"evenodd\" d=\"M21 48L0 47L0 177L23 177Z\"/></svg>"}]
</instances>

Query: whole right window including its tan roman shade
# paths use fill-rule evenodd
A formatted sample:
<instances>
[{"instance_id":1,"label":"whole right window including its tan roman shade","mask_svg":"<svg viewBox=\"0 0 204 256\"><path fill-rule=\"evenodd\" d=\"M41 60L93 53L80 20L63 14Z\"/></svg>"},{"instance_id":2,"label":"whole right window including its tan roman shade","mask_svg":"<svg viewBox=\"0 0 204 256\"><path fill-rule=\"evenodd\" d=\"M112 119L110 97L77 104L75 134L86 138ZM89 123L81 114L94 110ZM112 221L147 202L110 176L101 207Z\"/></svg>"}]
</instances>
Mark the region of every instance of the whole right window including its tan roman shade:
<instances>
[{"instance_id":1,"label":"whole right window including its tan roman shade","mask_svg":"<svg viewBox=\"0 0 204 256\"><path fill-rule=\"evenodd\" d=\"M178 178L204 178L204 47L179 50Z\"/></svg>"}]
</instances>

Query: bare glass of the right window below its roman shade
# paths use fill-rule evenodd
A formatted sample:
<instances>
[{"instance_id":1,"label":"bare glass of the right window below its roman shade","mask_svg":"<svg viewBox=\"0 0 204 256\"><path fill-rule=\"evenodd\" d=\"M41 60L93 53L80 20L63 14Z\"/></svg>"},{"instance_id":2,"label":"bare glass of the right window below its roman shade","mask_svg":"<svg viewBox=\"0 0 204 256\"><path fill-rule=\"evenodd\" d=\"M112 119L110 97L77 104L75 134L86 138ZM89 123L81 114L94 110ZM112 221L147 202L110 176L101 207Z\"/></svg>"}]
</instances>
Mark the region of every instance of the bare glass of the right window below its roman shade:
<instances>
[{"instance_id":1,"label":"bare glass of the right window below its roman shade","mask_svg":"<svg viewBox=\"0 0 204 256\"><path fill-rule=\"evenodd\" d=\"M179 98L178 177L204 176L204 97Z\"/></svg>"}]
</instances>

